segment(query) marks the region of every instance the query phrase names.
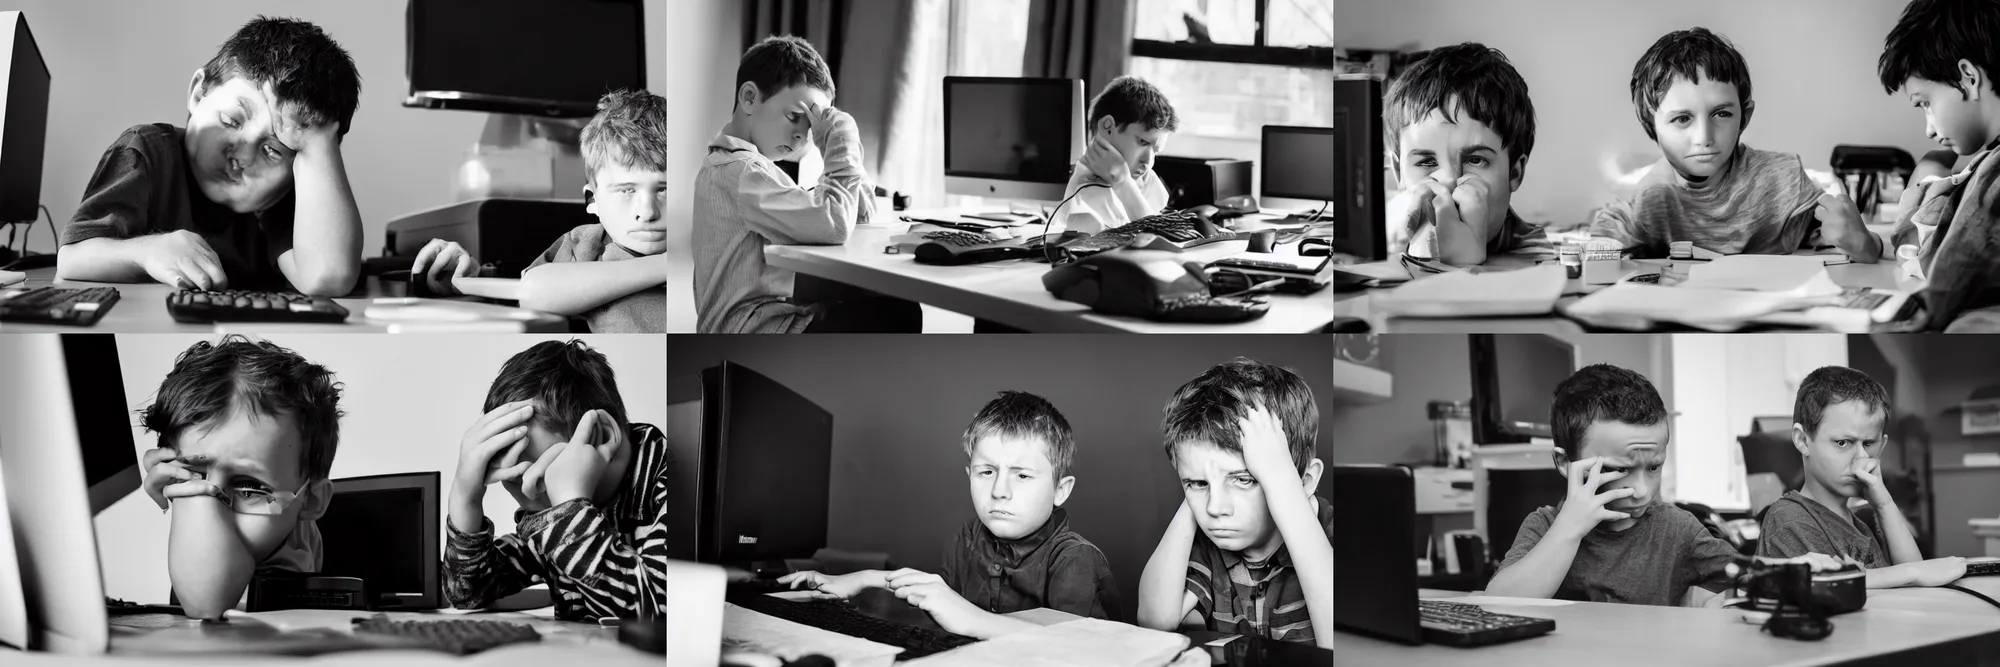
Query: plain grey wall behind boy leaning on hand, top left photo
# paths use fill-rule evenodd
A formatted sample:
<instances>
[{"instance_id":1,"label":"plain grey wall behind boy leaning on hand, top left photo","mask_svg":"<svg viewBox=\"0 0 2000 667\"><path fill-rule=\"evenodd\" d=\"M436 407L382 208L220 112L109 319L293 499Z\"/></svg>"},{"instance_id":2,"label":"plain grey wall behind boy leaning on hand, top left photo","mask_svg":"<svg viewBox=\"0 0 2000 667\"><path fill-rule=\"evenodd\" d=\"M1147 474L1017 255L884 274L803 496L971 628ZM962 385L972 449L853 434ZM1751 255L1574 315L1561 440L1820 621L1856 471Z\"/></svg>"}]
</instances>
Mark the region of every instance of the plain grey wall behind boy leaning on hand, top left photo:
<instances>
[{"instance_id":1,"label":"plain grey wall behind boy leaning on hand, top left photo","mask_svg":"<svg viewBox=\"0 0 2000 667\"><path fill-rule=\"evenodd\" d=\"M648 0L662 26L684 2ZM236 28L258 14L324 28L354 56L362 102L342 144L362 212L362 250L376 256L390 220L452 202L452 174L480 138L486 114L402 108L406 0L14 0L52 76L42 204L70 220L104 148L130 126L186 124L188 78ZM646 78L666 90L668 38L646 36ZM684 144L678 144L684 146ZM576 194L566 194L576 196ZM48 226L30 250L54 252Z\"/></svg>"}]
</instances>

